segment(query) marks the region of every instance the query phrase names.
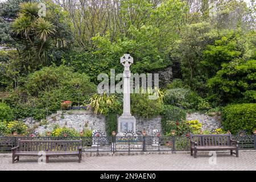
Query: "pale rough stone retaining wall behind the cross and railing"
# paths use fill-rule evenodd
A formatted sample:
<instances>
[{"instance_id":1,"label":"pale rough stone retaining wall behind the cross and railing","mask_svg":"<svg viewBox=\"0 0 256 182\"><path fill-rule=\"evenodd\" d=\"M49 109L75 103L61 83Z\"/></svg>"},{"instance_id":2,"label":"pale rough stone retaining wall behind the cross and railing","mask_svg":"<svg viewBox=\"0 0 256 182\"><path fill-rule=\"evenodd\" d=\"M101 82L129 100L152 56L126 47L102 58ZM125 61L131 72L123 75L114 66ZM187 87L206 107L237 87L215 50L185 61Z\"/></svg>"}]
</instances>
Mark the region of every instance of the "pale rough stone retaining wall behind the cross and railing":
<instances>
[{"instance_id":1,"label":"pale rough stone retaining wall behind the cross and railing","mask_svg":"<svg viewBox=\"0 0 256 182\"><path fill-rule=\"evenodd\" d=\"M212 131L219 128L220 125L220 114L213 113L212 115L192 113L187 114L187 120L199 120L203 124L203 130ZM52 114L46 118L46 121L36 122L31 118L24 119L26 125L30 127L35 127L35 131L41 135L44 135L46 131L52 131L53 127L57 124L60 127L71 127L77 131L82 131L85 129L89 130L101 130L103 133L106 133L105 122L106 119L104 115L94 115L92 111L87 110L70 110L57 111L56 114ZM137 124L137 134L141 134L143 130L146 130L147 135L153 136L153 130L160 130L161 128L161 117L146 119L136 117Z\"/></svg>"}]
</instances>

